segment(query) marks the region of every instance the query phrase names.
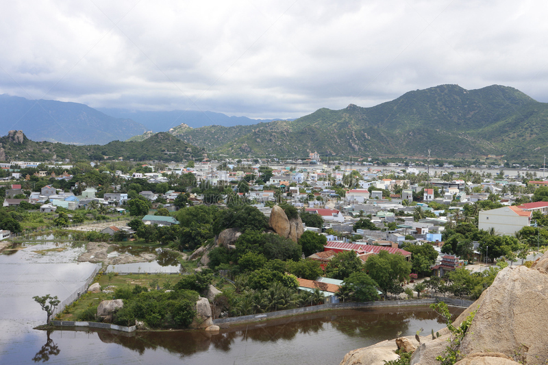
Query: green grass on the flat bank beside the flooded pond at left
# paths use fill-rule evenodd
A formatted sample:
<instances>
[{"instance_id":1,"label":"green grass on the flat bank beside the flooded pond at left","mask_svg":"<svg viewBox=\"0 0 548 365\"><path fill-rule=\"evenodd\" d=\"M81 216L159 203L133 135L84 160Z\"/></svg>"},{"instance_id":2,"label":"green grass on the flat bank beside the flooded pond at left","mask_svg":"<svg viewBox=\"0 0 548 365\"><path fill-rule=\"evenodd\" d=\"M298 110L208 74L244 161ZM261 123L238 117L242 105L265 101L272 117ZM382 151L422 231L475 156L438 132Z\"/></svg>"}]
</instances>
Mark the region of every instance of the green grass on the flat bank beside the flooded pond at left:
<instances>
[{"instance_id":1,"label":"green grass on the flat bank beside the flooded pond at left","mask_svg":"<svg viewBox=\"0 0 548 365\"><path fill-rule=\"evenodd\" d=\"M151 287L153 281L158 280L158 285L160 288L169 285L174 285L179 281L179 275L169 275L169 274L132 274L132 275L112 275L108 277L108 274L98 274L93 283L99 282L102 290L105 290L107 286L115 286L116 288L123 288L124 286L133 288L136 285L145 286L147 288ZM88 310L88 308L94 308L97 313L97 305L101 301L108 301L114 299L114 290L116 288L109 288L112 290L112 293L92 293L86 292L80 296L79 299L74 301L71 305L65 307L64 311L61 312L55 319L56 320L79 320L80 314Z\"/></svg>"}]
</instances>

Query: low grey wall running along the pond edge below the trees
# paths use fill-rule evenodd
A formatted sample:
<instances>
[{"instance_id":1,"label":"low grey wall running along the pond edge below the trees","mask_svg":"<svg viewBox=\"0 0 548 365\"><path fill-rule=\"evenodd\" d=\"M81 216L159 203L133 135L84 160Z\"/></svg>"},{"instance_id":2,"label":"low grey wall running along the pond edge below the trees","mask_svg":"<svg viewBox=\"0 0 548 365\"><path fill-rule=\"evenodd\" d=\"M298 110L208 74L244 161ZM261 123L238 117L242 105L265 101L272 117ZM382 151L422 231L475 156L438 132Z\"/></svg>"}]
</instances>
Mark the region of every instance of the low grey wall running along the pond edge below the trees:
<instances>
[{"instance_id":1,"label":"low grey wall running along the pond edge below the trees","mask_svg":"<svg viewBox=\"0 0 548 365\"><path fill-rule=\"evenodd\" d=\"M225 323L240 323L240 322L254 322L258 320L265 320L268 318L279 318L285 316L294 316L295 314L305 314L320 312L323 310L345 310L345 309L356 309L356 308L382 308L382 307L413 307L416 305L428 305L432 303L437 303L443 301L448 305L455 305L458 307L466 306L469 307L473 301L466 301L464 299L453 299L453 298L442 298L434 297L427 299L417 299L410 301L369 301L369 302L351 302L351 303L329 303L329 304L320 304L312 305L310 307L300 307L294 308L292 310L279 310L277 312L268 312L261 314L250 314L249 316L239 316L239 317L227 317L227 318L217 318L213 320L214 325L221 325ZM466 303L467 305L464 305Z\"/></svg>"}]
</instances>

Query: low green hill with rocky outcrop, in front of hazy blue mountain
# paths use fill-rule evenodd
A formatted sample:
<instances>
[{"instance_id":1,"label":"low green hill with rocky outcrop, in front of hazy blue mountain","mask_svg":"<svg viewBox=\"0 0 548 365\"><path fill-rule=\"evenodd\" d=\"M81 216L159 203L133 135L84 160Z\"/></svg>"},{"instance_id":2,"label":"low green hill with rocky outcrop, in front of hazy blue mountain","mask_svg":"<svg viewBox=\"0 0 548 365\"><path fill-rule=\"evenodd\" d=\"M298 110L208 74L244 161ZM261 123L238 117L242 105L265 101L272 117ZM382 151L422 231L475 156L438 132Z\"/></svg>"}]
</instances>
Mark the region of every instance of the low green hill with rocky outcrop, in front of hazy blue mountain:
<instances>
[{"instance_id":1,"label":"low green hill with rocky outcrop, in front of hazy blue mountain","mask_svg":"<svg viewBox=\"0 0 548 365\"><path fill-rule=\"evenodd\" d=\"M78 160L162 160L181 162L192 158L203 158L205 151L192 146L166 132L154 134L140 142L115 140L104 145L76 146L30 140L23 131L12 130L0 138L0 161L63 161Z\"/></svg>"}]
</instances>

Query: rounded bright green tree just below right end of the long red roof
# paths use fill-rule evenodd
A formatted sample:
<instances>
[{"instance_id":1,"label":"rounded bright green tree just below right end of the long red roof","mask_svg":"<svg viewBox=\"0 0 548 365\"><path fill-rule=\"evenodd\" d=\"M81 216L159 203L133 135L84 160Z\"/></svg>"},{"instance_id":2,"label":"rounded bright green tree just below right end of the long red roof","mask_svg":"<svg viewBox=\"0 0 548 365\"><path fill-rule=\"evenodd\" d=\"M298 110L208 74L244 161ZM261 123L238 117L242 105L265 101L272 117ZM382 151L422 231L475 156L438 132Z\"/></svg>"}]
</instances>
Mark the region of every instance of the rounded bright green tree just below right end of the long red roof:
<instances>
[{"instance_id":1,"label":"rounded bright green tree just below right end of the long red roof","mask_svg":"<svg viewBox=\"0 0 548 365\"><path fill-rule=\"evenodd\" d=\"M400 283L408 279L411 273L411 264L406 257L399 253L380 251L372 255L365 262L366 272L375 280L386 299L387 293L399 294L403 289Z\"/></svg>"}]
</instances>

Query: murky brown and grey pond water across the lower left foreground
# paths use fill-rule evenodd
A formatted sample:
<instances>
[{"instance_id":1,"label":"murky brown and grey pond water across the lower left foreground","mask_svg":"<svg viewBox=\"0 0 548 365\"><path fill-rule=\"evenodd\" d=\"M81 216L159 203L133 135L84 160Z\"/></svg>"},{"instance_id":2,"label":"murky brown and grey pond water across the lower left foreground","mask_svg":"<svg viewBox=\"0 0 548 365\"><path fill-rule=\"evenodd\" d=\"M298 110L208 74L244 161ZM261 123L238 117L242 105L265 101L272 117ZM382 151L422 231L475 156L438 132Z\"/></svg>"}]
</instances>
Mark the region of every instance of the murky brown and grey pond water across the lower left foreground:
<instances>
[{"instance_id":1,"label":"murky brown and grey pond water across the lower left foreground","mask_svg":"<svg viewBox=\"0 0 548 365\"><path fill-rule=\"evenodd\" d=\"M33 327L45 323L45 312L32 297L49 293L64 299L95 265L75 263L83 249L70 243L19 248L0 255L0 364L338 364L348 351L399 332L414 335L422 327L427 334L443 327L428 307L413 307L321 312L215 335L39 331Z\"/></svg>"}]
</instances>

